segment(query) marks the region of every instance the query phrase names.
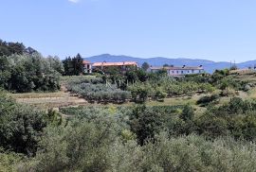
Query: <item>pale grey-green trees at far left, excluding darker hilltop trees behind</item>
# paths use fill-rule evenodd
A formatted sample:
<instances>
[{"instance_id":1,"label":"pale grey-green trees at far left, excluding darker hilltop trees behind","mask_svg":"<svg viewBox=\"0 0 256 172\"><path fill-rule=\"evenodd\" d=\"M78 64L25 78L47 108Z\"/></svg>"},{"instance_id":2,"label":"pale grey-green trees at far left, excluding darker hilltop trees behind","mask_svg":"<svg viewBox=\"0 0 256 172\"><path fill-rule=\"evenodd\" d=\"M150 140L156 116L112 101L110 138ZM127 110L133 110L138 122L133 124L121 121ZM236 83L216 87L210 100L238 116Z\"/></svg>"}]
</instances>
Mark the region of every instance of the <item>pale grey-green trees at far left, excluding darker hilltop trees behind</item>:
<instances>
[{"instance_id":1,"label":"pale grey-green trees at far left, excluding darker hilltop trees behind","mask_svg":"<svg viewBox=\"0 0 256 172\"><path fill-rule=\"evenodd\" d=\"M0 87L10 92L56 91L60 73L39 54L0 56ZM56 66L57 67L57 66Z\"/></svg>"}]
</instances>

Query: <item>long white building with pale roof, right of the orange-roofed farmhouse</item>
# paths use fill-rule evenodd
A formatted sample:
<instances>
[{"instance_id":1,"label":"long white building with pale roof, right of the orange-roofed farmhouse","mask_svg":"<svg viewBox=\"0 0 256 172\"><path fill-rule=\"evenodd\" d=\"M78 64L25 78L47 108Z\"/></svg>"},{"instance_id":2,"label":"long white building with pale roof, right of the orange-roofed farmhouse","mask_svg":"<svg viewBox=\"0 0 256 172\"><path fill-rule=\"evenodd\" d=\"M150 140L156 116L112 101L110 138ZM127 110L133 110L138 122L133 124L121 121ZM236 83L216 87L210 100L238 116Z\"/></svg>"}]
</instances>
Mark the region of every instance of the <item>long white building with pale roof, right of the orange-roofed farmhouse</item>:
<instances>
[{"instance_id":1,"label":"long white building with pale roof, right of the orange-roofed farmhouse","mask_svg":"<svg viewBox=\"0 0 256 172\"><path fill-rule=\"evenodd\" d=\"M155 73L163 69L166 70L168 76L171 76L171 77L182 77L185 75L202 74L205 72L202 65L197 67L190 67L186 65L182 67L175 67L175 66L174 67L150 67L149 71L152 73Z\"/></svg>"}]
</instances>

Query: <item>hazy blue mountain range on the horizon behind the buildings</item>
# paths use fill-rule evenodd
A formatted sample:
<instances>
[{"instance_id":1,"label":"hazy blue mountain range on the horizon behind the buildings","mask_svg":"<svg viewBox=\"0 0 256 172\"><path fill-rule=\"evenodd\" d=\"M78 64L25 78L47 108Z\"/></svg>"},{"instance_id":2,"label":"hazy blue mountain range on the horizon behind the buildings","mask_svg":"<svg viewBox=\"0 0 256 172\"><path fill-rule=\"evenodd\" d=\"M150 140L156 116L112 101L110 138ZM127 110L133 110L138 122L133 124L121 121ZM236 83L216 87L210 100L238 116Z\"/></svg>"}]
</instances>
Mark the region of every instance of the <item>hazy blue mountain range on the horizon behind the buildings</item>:
<instances>
[{"instance_id":1,"label":"hazy blue mountain range on the horizon behind the buildings","mask_svg":"<svg viewBox=\"0 0 256 172\"><path fill-rule=\"evenodd\" d=\"M137 61L137 63L140 66L143 62L148 62L152 66L162 66L163 64L166 64L166 63L173 64L174 66L203 65L205 70L208 73L212 73L216 69L225 69L225 68L230 67L230 62L228 62L228 61L215 62L212 60L169 59L169 58L162 58L162 57L142 59L142 58L134 58L134 57L129 57L129 56L114 56L114 55L110 55L110 54L102 54L99 56L93 56L93 57L85 58L84 60L89 60L91 62ZM256 64L256 60L249 60L246 62L237 63L236 65L239 68L247 68L247 67L253 67L255 64Z\"/></svg>"}]
</instances>

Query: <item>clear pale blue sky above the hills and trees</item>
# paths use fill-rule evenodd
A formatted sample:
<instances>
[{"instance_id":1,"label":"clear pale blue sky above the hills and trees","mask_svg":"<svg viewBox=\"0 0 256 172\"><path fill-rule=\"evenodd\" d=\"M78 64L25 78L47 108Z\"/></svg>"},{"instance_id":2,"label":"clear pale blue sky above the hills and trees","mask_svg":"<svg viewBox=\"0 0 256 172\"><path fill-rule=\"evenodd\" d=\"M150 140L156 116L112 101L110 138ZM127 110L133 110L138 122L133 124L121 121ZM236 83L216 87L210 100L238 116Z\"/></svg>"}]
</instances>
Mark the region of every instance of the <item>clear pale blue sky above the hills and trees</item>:
<instances>
[{"instance_id":1,"label":"clear pale blue sky above the hills and trees","mask_svg":"<svg viewBox=\"0 0 256 172\"><path fill-rule=\"evenodd\" d=\"M255 0L0 0L0 39L61 59L256 60Z\"/></svg>"}]
</instances>

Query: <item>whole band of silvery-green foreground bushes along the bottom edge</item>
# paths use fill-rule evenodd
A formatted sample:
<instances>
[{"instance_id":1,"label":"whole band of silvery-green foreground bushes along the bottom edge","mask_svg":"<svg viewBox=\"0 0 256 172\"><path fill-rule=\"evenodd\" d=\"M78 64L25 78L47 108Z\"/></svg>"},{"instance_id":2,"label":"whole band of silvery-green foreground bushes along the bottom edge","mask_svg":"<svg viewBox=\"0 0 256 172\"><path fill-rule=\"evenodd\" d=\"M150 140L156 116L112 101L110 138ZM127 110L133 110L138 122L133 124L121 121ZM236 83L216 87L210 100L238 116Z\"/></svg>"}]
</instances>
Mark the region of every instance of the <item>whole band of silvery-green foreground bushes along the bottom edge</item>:
<instances>
[{"instance_id":1,"label":"whole band of silvery-green foreground bushes along the bottom edge","mask_svg":"<svg viewBox=\"0 0 256 172\"><path fill-rule=\"evenodd\" d=\"M101 138L101 134L93 132L93 124L86 126L76 127L76 134L73 134L72 140L67 140L71 137L67 132L61 137L55 134L55 137L51 135L49 138L44 138L44 149L36 157L37 163L30 169L35 171L243 171L244 169L253 171L256 167L255 144L235 142L230 138L207 141L197 135L168 139L165 134L160 134L155 136L154 143L148 142L144 146L137 146L133 141L125 144L113 141L109 134ZM99 139L102 141L100 145L94 145Z\"/></svg>"}]
</instances>

